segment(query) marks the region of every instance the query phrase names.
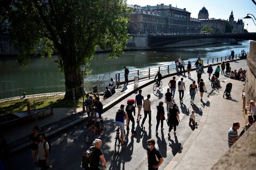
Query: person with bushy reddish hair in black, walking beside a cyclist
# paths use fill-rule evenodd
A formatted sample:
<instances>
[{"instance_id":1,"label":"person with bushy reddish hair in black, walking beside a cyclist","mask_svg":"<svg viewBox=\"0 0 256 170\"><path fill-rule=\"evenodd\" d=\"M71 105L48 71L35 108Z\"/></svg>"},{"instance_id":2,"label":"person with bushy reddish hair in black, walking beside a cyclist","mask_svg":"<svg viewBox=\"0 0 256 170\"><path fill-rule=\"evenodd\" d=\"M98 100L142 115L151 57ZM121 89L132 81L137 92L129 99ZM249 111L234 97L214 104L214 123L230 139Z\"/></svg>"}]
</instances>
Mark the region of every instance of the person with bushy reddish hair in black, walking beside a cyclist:
<instances>
[{"instance_id":1,"label":"person with bushy reddish hair in black, walking beside a cyclist","mask_svg":"<svg viewBox=\"0 0 256 170\"><path fill-rule=\"evenodd\" d=\"M132 112L134 113L135 115L135 106L133 106L133 104L135 103L135 100L134 99L128 99L127 100L127 106L125 108L125 111L127 112L127 115L128 115L128 118L129 118L129 122L128 124L126 124L126 130L129 131L130 128L129 128L129 124L130 124L130 121L132 122L132 134L135 134L136 131L134 130L135 129L135 121L134 121L134 117L132 116Z\"/></svg>"}]
</instances>

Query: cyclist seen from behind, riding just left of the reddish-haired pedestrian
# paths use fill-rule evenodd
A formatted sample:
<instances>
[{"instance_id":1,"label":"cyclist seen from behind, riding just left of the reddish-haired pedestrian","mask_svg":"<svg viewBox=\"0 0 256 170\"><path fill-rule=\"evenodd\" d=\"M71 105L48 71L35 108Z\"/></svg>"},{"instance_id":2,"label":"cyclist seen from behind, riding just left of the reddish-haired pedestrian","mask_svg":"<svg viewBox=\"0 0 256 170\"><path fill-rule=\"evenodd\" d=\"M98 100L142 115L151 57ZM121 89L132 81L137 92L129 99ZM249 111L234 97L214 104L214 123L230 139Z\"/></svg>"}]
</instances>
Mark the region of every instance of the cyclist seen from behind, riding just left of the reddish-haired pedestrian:
<instances>
[{"instance_id":1,"label":"cyclist seen from behind, riding just left of the reddish-haired pedestrian","mask_svg":"<svg viewBox=\"0 0 256 170\"><path fill-rule=\"evenodd\" d=\"M121 146L124 146L124 119L126 119L126 124L128 124L129 118L127 116L127 112L124 111L124 105L121 104L120 109L118 109L117 113L115 114L115 125L120 127L121 130Z\"/></svg>"}]
</instances>

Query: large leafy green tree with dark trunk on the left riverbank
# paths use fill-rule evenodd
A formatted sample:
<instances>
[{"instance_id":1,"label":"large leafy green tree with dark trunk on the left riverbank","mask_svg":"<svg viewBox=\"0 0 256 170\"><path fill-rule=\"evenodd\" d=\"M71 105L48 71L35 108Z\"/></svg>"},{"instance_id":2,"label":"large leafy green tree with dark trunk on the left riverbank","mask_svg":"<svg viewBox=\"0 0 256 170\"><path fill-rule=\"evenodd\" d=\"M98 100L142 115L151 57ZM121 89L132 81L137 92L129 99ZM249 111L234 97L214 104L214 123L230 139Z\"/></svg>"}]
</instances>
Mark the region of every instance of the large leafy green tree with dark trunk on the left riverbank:
<instances>
[{"instance_id":1,"label":"large leafy green tree with dark trunk on the left riverbank","mask_svg":"<svg viewBox=\"0 0 256 170\"><path fill-rule=\"evenodd\" d=\"M129 38L123 0L17 0L9 7L10 41L20 52L17 62L26 68L39 47L42 58L57 52L66 99L73 88L82 94L80 65L88 68L97 46L117 58Z\"/></svg>"}]
</instances>

